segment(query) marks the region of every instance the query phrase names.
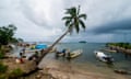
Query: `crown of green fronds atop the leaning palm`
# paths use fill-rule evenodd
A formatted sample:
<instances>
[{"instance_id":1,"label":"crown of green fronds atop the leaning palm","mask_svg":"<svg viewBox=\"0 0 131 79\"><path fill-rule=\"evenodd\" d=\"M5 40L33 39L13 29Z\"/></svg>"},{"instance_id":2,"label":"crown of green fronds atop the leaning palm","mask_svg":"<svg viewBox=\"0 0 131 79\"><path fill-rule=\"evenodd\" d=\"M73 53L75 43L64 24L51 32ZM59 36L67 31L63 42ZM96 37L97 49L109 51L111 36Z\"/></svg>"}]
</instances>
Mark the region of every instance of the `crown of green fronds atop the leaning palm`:
<instances>
[{"instance_id":1,"label":"crown of green fronds atop the leaning palm","mask_svg":"<svg viewBox=\"0 0 131 79\"><path fill-rule=\"evenodd\" d=\"M62 20L64 20L66 26L69 29L70 33L72 33L73 29L76 31L76 33L80 32L81 27L85 30L86 26L83 20L86 20L86 14L80 14L80 5L79 8L72 7L67 9L66 14L68 16L62 18Z\"/></svg>"}]
</instances>

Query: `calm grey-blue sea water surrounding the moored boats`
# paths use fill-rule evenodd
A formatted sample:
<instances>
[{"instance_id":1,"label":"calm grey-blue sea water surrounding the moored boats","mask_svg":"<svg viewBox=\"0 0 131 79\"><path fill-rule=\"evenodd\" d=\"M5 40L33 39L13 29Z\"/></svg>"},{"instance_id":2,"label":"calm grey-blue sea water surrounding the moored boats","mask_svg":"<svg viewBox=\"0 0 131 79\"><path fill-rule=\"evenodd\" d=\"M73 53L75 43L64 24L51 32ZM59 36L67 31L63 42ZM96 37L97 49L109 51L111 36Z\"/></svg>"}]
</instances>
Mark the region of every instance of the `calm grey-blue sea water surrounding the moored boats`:
<instances>
[{"instance_id":1,"label":"calm grey-blue sea water surrounding the moored boats","mask_svg":"<svg viewBox=\"0 0 131 79\"><path fill-rule=\"evenodd\" d=\"M107 53L108 55L111 55L115 59L115 63L112 65L105 64L103 61L99 61L95 55L94 50L98 50L102 48L105 48L104 43L62 43L57 45L58 50L62 50L63 48L69 48L71 52L75 49L83 49L83 54L76 58L71 59L72 67L78 67L79 69L87 70L87 71L95 71L95 72L102 72L107 75L114 75L114 69L127 69L131 71L131 56L129 58L124 57L124 54L122 53ZM48 54L46 59L55 59L57 61L60 61L61 64L64 64L64 60L62 57L57 58L55 57L53 53Z\"/></svg>"}]
</instances>

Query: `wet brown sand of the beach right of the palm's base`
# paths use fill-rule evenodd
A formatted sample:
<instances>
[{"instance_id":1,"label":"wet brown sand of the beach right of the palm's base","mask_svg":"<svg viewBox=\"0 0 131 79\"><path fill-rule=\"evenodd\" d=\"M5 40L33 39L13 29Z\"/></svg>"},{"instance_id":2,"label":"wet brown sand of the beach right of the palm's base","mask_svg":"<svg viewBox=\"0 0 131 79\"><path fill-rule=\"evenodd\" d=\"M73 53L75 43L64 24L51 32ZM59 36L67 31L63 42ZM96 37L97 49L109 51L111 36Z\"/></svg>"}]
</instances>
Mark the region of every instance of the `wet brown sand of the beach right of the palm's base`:
<instances>
[{"instance_id":1,"label":"wet brown sand of the beach right of the palm's base","mask_svg":"<svg viewBox=\"0 0 131 79\"><path fill-rule=\"evenodd\" d=\"M56 79L131 79L126 75L106 75L98 71L83 70L78 66L72 67L69 61L60 63L55 59L44 58L39 67L44 69L43 72L47 72Z\"/></svg>"}]
</instances>

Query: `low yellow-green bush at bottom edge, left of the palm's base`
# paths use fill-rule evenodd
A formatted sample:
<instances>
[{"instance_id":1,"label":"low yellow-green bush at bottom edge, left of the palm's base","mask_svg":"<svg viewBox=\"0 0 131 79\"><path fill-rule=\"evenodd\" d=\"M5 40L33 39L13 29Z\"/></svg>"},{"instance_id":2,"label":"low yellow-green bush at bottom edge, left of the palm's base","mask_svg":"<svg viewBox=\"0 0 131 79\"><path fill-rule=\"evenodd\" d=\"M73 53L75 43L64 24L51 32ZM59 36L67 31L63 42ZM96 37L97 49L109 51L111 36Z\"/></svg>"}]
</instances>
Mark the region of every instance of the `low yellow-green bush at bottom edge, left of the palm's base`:
<instances>
[{"instance_id":1,"label":"low yellow-green bush at bottom edge, left of the palm's base","mask_svg":"<svg viewBox=\"0 0 131 79\"><path fill-rule=\"evenodd\" d=\"M23 75L23 70L20 68L13 69L10 74L9 74L9 78L17 78L20 76Z\"/></svg>"}]
</instances>

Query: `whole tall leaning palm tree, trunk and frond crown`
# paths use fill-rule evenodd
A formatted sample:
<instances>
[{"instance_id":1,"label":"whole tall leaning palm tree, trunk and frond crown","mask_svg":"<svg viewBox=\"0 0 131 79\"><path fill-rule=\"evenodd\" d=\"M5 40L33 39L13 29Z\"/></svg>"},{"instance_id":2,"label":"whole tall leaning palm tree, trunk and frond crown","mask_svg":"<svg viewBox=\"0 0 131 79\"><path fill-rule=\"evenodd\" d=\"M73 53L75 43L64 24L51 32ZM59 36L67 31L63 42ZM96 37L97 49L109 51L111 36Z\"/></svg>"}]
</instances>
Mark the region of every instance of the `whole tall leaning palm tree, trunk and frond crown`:
<instances>
[{"instance_id":1,"label":"whole tall leaning palm tree, trunk and frond crown","mask_svg":"<svg viewBox=\"0 0 131 79\"><path fill-rule=\"evenodd\" d=\"M49 48L47 48L46 54L52 49L52 47L58 44L68 33L72 33L73 29L75 29L78 33L80 32L80 26L85 30L83 20L86 20L86 14L80 14L80 5L78 9L75 7L67 9L66 14L68 14L68 16L62 18L62 20L66 22L67 31Z\"/></svg>"}]
</instances>

